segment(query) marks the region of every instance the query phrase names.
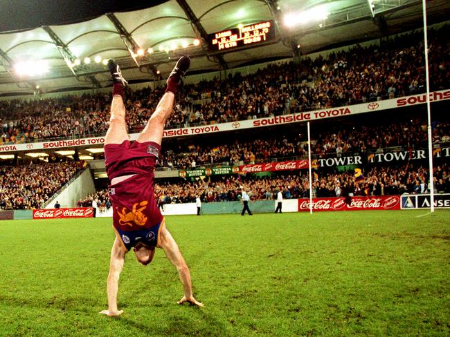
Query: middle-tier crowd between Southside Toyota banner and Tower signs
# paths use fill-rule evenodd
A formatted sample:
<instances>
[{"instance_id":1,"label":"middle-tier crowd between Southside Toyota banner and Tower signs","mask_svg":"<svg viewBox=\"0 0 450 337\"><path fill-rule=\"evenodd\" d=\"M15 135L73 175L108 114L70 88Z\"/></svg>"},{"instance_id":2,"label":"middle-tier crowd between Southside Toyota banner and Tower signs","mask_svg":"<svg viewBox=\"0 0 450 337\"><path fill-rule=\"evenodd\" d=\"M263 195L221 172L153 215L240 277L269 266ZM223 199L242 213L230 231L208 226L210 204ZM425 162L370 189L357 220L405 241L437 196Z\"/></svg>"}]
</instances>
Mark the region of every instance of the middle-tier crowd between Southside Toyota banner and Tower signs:
<instances>
[{"instance_id":1,"label":"middle-tier crowd between Southside Toyota banner and Tower signs","mask_svg":"<svg viewBox=\"0 0 450 337\"><path fill-rule=\"evenodd\" d=\"M433 144L450 146L450 124L433 123ZM412 119L396 124L334 125L312 131L312 155L341 157L353 153L383 153L389 148L426 148L428 142L426 122ZM236 139L224 144L224 139L207 144L165 145L159 166L165 168L195 168L208 164L255 164L274 159L307 157L307 137L299 135L271 135L262 138Z\"/></svg>"}]
</instances>

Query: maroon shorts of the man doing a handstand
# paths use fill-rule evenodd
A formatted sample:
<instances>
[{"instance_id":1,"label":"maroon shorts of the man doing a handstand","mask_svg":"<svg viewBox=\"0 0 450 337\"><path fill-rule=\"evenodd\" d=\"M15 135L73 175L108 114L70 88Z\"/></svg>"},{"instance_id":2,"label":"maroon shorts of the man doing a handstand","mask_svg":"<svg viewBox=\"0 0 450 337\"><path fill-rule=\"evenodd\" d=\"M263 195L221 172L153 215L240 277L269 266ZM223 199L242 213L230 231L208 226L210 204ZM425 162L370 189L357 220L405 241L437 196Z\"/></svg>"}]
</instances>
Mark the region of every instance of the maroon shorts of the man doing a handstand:
<instances>
[{"instance_id":1,"label":"maroon shorts of the man doing a handstand","mask_svg":"<svg viewBox=\"0 0 450 337\"><path fill-rule=\"evenodd\" d=\"M105 145L105 166L109 180L120 175L150 173L154 170L161 145L133 142Z\"/></svg>"}]
</instances>

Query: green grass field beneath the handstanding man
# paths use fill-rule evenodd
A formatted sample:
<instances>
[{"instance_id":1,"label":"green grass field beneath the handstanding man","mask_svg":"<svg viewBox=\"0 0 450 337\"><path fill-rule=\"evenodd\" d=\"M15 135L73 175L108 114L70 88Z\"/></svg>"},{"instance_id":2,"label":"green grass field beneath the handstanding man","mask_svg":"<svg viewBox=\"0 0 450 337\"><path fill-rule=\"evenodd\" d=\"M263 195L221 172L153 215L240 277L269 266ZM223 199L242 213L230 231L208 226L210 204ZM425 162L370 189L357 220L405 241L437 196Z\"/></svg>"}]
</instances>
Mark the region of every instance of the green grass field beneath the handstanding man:
<instances>
[{"instance_id":1,"label":"green grass field beneath the handstanding man","mask_svg":"<svg viewBox=\"0 0 450 337\"><path fill-rule=\"evenodd\" d=\"M107 308L111 219L0 222L0 336L448 336L450 211L168 217L177 271L127 256Z\"/></svg>"}]
</instances>

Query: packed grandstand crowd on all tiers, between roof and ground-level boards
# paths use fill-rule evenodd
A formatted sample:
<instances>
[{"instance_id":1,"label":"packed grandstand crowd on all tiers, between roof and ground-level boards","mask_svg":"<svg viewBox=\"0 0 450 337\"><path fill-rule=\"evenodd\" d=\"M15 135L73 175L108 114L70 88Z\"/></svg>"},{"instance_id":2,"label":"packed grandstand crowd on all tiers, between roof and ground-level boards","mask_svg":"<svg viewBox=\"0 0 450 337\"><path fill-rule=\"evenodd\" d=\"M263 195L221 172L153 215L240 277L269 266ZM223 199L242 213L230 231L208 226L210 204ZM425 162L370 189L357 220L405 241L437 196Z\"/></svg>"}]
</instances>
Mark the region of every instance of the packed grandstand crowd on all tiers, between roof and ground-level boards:
<instances>
[{"instance_id":1,"label":"packed grandstand crowd on all tiers, between roof and ground-level boards","mask_svg":"<svg viewBox=\"0 0 450 337\"><path fill-rule=\"evenodd\" d=\"M450 26L430 30L431 90L450 87ZM177 97L166 128L217 125L246 119L274 117L338 108L353 104L424 93L422 32L386 39L380 45L351 46L314 58L262 64L250 75L239 71L224 79L185 84ZM129 133L141 131L163 93L160 88L127 89ZM109 125L110 93L60 95L42 99L1 99L0 145L42 139L77 139L105 135ZM440 105L433 115L435 193L450 193L450 123ZM336 118L339 123L312 126L312 195L399 195L429 193L426 155L427 126L423 110L390 110L363 117ZM156 175L155 193L161 204L228 202L240 200L242 189L253 200L309 198L308 171L287 166L276 172L242 170L242 166L307 160L305 124L272 126L267 131L235 131L231 135L199 135L163 143L159 171L183 174ZM422 151L422 154L420 154ZM377 155L403 153L397 160L374 160ZM372 156L372 157L370 157ZM326 159L372 158L327 164ZM75 159L74 159L75 158ZM54 153L39 159L2 160L1 209L39 209L49 206L55 193L82 170L89 160ZM94 159L94 158L92 158ZM102 153L96 159L103 160ZM339 163L339 161L335 162ZM12 166L11 166L12 165ZM223 175L189 176L199 168L236 167ZM362 172L355 175L355 169ZM96 193L86 193L77 204L109 209L105 178L96 180ZM51 206L51 205L50 205Z\"/></svg>"}]
</instances>

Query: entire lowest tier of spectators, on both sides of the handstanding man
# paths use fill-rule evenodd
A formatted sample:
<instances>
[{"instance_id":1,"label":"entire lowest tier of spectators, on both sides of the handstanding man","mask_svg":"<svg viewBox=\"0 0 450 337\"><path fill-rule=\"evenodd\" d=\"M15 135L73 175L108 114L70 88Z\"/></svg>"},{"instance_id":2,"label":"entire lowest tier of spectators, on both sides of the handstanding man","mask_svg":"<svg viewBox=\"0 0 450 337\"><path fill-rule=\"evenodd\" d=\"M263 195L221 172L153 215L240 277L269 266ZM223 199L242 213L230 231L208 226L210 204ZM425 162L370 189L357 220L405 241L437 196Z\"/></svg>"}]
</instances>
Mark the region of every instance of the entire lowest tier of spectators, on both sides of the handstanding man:
<instances>
[{"instance_id":1,"label":"entire lowest tier of spectators, on both sides of the handstanding man","mask_svg":"<svg viewBox=\"0 0 450 337\"><path fill-rule=\"evenodd\" d=\"M33 164L29 166L0 166L0 209L40 209L75 173L80 162ZM401 167L373 166L355 177L354 171L315 171L312 182L314 197L346 195L398 195L429 193L428 170L418 164ZM450 193L448 164L435 166L435 193ZM252 200L273 200L278 191L283 198L309 198L309 177L306 172L278 174L267 177L228 175L188 180L156 180L155 198L161 203L240 200L242 190ZM96 191L78 201L78 207L96 207L100 213L111 207L108 191Z\"/></svg>"}]
</instances>

